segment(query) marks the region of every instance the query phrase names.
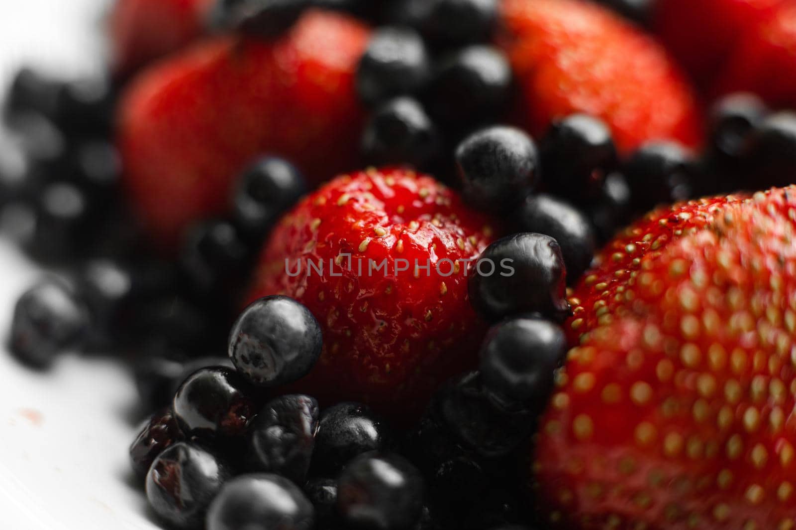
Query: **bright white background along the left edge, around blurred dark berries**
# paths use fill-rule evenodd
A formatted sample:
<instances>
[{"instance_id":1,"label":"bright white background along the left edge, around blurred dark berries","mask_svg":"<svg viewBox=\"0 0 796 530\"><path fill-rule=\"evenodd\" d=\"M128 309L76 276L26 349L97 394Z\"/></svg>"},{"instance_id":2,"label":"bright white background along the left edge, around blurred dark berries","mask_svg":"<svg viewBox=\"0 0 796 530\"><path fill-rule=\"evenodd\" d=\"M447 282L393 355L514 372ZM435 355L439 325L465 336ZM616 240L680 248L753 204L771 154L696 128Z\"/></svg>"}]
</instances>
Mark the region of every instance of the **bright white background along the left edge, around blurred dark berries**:
<instances>
[{"instance_id":1,"label":"bright white background along the left edge, around blurred dark berries","mask_svg":"<svg viewBox=\"0 0 796 530\"><path fill-rule=\"evenodd\" d=\"M65 75L99 72L106 6L0 0L0 91L23 62ZM76 354L32 373L2 346L14 301L41 273L0 242L0 529L158 528L128 471L136 397L127 373Z\"/></svg>"}]
</instances>

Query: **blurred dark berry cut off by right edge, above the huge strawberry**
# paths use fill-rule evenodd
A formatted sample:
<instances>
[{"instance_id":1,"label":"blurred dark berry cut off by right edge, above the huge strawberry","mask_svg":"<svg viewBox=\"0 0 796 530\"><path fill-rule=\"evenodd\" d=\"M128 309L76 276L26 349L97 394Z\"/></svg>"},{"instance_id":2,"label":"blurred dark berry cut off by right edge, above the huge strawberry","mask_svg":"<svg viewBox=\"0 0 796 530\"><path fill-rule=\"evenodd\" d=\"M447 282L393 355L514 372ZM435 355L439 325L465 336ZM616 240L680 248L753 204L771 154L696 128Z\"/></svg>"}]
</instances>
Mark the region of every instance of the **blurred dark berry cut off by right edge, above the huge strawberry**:
<instances>
[{"instance_id":1,"label":"blurred dark berry cut off by right edge, above the huge strawberry","mask_svg":"<svg viewBox=\"0 0 796 530\"><path fill-rule=\"evenodd\" d=\"M747 188L759 190L796 182L796 113L782 111L755 127L747 157L755 169L755 180Z\"/></svg>"}]
</instances>

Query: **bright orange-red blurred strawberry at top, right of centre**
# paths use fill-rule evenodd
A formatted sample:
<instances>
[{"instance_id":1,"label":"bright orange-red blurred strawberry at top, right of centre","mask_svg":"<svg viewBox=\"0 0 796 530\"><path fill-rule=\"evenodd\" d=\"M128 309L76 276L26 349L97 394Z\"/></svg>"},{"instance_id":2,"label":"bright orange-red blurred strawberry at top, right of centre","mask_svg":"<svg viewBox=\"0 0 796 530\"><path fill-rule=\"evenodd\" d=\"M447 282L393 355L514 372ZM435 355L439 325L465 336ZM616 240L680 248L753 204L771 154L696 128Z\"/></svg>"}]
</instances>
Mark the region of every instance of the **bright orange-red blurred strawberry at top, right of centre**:
<instances>
[{"instance_id":1,"label":"bright orange-red blurred strawberry at top, right of centre","mask_svg":"<svg viewBox=\"0 0 796 530\"><path fill-rule=\"evenodd\" d=\"M700 141L700 118L681 72L651 37L601 6L505 0L504 47L532 133L553 118L603 118L628 152L650 139Z\"/></svg>"}]
</instances>

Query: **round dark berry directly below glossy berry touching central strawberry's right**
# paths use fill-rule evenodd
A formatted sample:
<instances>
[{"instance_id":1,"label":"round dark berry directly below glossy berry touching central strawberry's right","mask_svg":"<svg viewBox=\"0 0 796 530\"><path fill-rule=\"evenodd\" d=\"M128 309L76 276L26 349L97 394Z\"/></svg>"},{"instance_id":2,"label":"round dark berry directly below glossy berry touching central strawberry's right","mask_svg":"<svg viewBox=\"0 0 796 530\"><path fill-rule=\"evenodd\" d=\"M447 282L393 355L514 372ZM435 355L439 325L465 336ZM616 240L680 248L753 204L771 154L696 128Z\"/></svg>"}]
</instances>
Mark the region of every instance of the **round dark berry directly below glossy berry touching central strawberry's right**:
<instances>
[{"instance_id":1,"label":"round dark berry directly below glossy berry touching central strawberry's right","mask_svg":"<svg viewBox=\"0 0 796 530\"><path fill-rule=\"evenodd\" d=\"M540 410L566 352L567 337L556 323L530 316L503 320L481 347L482 382L493 393Z\"/></svg>"}]
</instances>

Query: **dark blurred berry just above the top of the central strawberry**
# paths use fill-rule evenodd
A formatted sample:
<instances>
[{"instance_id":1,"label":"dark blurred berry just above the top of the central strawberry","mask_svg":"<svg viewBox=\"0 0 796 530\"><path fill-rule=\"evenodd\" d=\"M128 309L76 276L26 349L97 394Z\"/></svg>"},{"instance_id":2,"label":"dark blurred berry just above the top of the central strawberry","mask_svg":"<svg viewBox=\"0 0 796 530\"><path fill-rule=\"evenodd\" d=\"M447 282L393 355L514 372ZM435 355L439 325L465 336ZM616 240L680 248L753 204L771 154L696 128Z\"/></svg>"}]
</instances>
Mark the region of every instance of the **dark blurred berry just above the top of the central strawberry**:
<instances>
[{"instance_id":1,"label":"dark blurred berry just above the top of the central strawberry","mask_svg":"<svg viewBox=\"0 0 796 530\"><path fill-rule=\"evenodd\" d=\"M427 168L439 155L436 126L415 99L400 97L379 106L362 134L368 164Z\"/></svg>"}]
</instances>

